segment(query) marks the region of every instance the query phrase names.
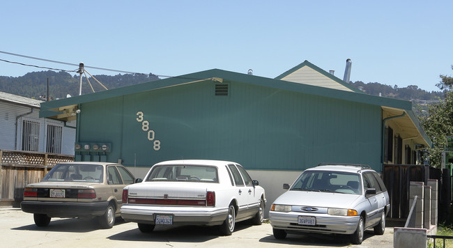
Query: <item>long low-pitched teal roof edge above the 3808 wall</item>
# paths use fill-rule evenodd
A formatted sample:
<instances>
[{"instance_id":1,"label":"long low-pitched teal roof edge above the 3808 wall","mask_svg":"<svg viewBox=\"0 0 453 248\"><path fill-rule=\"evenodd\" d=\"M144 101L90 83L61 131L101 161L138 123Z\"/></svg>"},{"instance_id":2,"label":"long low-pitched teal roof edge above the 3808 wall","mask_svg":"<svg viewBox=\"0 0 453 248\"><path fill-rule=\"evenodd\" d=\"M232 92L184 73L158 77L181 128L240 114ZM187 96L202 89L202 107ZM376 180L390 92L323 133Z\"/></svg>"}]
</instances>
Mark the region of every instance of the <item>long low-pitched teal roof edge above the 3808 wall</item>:
<instances>
[{"instance_id":1,"label":"long low-pitched teal roof edge above the 3808 wall","mask_svg":"<svg viewBox=\"0 0 453 248\"><path fill-rule=\"evenodd\" d=\"M304 63L305 65L307 65L308 62L306 61ZM399 111L404 111L408 113L408 115L406 115L406 118L401 118L401 120L399 121L404 122L405 125L411 126L415 128L415 130L417 130L417 133L420 136L420 139L418 139L418 141L420 141L420 144L431 146L431 141L429 137L427 137L427 134L420 127L420 124L415 114L413 114L412 102L405 100L397 100L394 98L383 98L378 97L376 95L367 95L362 92L341 91L332 88L288 82L281 79L270 79L267 77L247 75L238 72L229 72L227 70L219 69L194 72L187 75L170 77L167 79L161 79L158 81L148 82L144 84L136 84L121 88L114 88L109 91L100 91L98 93L79 95L72 98L54 100L51 102L43 102L41 104L40 118L48 117L56 118L63 121L71 121L76 118L75 110L77 109L78 104L203 81L240 82L244 84L254 84L256 86L266 86L285 91L293 91L310 95L324 96L327 98L377 105L381 106L383 108L383 111L385 111L385 109L399 109Z\"/></svg>"}]
</instances>

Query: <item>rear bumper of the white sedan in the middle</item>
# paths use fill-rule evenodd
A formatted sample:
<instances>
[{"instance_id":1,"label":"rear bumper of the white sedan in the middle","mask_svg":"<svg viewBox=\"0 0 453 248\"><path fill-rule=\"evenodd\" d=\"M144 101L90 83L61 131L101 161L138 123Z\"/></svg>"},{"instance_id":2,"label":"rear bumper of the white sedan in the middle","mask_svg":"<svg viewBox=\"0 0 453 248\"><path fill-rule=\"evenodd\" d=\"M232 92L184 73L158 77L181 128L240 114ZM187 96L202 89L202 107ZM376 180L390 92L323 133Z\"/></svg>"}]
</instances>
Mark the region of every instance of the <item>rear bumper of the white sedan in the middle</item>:
<instances>
[{"instance_id":1,"label":"rear bumper of the white sedan in the middle","mask_svg":"<svg viewBox=\"0 0 453 248\"><path fill-rule=\"evenodd\" d=\"M227 219L228 208L149 207L123 205L121 217L126 222L155 224L156 215L172 215L174 225L220 225Z\"/></svg>"}]
</instances>

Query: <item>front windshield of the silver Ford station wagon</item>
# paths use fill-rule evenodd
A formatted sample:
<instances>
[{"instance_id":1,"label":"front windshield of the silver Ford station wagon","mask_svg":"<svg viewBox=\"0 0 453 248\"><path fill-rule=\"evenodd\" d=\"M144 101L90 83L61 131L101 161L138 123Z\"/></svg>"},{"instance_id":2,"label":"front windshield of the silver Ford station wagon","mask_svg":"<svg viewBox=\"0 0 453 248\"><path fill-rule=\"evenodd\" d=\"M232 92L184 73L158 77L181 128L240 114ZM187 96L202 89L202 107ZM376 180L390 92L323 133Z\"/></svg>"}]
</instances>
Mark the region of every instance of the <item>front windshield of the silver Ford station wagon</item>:
<instances>
[{"instance_id":1,"label":"front windshield of the silver Ford station wagon","mask_svg":"<svg viewBox=\"0 0 453 248\"><path fill-rule=\"evenodd\" d=\"M305 171L290 190L362 194L362 183L357 173Z\"/></svg>"}]
</instances>

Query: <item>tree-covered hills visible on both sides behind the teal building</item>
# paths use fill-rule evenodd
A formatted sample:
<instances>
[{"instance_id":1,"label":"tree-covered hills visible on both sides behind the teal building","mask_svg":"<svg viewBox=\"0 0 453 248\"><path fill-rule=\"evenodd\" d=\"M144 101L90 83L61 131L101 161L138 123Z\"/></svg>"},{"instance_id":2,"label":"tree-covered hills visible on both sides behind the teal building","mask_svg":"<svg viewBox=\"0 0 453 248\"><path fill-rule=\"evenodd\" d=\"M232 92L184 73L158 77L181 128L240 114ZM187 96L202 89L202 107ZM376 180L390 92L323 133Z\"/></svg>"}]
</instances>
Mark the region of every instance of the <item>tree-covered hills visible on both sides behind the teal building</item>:
<instances>
[{"instance_id":1,"label":"tree-covered hills visible on both sides behind the teal building","mask_svg":"<svg viewBox=\"0 0 453 248\"><path fill-rule=\"evenodd\" d=\"M141 84L159 80L159 77L150 73L144 74L118 74L114 76L108 75L93 75L99 82L109 89L132 84ZM23 95L29 98L45 100L47 95L47 78L49 78L49 95L52 99L66 98L66 95L79 95L79 76L72 76L68 72L54 72L52 70L41 72L29 72L22 77L4 77L0 76L0 91ZM105 88L100 86L95 79L89 77L89 81L95 92L105 91ZM410 100L415 104L426 104L436 102L443 99L442 91L424 91L418 86L410 85L406 88L398 86L388 86L379 83L368 83L357 81L351 82L352 86L359 88L364 93L370 95L380 95L387 98L398 98L402 100ZM82 94L92 93L86 78L82 80ZM414 104L414 105L415 105Z\"/></svg>"}]
</instances>

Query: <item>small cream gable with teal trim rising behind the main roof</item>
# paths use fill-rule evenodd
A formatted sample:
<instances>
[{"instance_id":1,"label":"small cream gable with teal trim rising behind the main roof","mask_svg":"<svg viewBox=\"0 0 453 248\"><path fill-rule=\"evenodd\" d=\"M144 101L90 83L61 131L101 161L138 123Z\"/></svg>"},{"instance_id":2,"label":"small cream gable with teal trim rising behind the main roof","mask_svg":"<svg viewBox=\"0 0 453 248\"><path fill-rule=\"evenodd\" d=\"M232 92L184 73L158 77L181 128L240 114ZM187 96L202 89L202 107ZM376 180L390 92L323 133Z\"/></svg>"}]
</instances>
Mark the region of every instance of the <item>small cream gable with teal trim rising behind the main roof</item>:
<instances>
[{"instance_id":1,"label":"small cream gable with teal trim rising behind the main roof","mask_svg":"<svg viewBox=\"0 0 453 248\"><path fill-rule=\"evenodd\" d=\"M299 84L308 84L314 86L320 86L325 88L333 88L340 91L353 91L355 93L362 93L358 88L347 84L343 80L335 77L334 75L326 72L325 70L318 68L318 66L304 61L299 65L287 70L275 79L280 79L289 82L295 82Z\"/></svg>"}]
</instances>

